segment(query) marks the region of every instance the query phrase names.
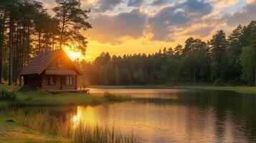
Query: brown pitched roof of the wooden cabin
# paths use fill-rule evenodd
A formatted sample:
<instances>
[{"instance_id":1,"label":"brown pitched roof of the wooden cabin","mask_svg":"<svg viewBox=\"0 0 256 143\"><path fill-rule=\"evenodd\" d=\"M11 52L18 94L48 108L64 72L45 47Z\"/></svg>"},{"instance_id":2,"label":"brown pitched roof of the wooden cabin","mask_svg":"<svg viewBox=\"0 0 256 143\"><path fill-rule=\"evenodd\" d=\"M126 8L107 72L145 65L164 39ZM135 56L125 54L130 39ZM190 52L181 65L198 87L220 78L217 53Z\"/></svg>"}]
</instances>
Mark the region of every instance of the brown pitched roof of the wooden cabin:
<instances>
[{"instance_id":1,"label":"brown pitched roof of the wooden cabin","mask_svg":"<svg viewBox=\"0 0 256 143\"><path fill-rule=\"evenodd\" d=\"M67 54L65 53L65 51L63 51L63 49L47 51L47 52L44 52L43 54L39 54L34 59L32 59L32 61L29 61L29 64L20 72L19 75L42 74L42 72L47 68L47 66L49 66L49 64L52 63L52 61L54 61L54 59L56 59L58 56L63 54L67 56ZM67 57L70 59L69 56ZM77 74L82 75L83 73L80 70L80 68L76 66L73 62L72 64L75 67Z\"/></svg>"}]
</instances>

